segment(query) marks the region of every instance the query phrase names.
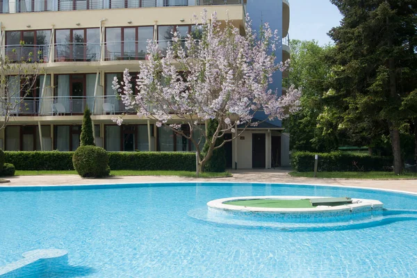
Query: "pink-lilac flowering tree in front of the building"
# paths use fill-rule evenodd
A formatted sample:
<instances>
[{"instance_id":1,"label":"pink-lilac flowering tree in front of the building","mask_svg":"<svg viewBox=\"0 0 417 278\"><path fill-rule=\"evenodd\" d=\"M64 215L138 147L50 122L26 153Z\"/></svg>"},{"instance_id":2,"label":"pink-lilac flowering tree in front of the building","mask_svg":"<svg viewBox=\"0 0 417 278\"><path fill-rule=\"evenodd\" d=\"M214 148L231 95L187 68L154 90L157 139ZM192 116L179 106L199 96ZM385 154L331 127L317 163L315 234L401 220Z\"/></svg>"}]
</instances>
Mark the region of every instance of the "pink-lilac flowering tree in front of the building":
<instances>
[{"instance_id":1,"label":"pink-lilac flowering tree in front of the building","mask_svg":"<svg viewBox=\"0 0 417 278\"><path fill-rule=\"evenodd\" d=\"M194 19L195 31L185 39L172 33L164 53L157 42L150 41L148 60L139 64L136 81L125 70L123 81L113 81L113 89L138 116L153 119L156 126L165 125L190 140L197 152L198 170L203 171L214 149L240 136L248 126L259 124L252 120L258 111L270 120L282 120L297 111L300 91L291 87L279 96L277 90L268 88L272 74L287 66L276 61L279 36L268 24L256 33L247 17L245 35L241 35L231 22L220 24L215 13L208 19L204 10L202 24L197 24L196 16ZM122 116L113 120L122 124ZM205 138L202 131L208 120L219 123L211 138ZM195 133L199 136L193 136ZM215 145L225 133L232 133L231 139ZM204 154L199 144L202 140L208 144Z\"/></svg>"}]
</instances>

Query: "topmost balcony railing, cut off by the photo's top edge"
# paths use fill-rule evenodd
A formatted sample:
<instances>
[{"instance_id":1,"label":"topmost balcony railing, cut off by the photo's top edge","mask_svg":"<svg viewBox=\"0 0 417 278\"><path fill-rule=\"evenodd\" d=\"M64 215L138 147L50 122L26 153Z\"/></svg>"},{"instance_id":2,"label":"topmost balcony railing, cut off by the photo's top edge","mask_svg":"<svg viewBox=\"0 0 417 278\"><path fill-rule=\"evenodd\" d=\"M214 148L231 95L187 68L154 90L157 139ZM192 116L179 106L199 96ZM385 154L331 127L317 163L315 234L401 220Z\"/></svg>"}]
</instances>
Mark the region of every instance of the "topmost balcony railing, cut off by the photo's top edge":
<instances>
[{"instance_id":1,"label":"topmost balcony railing, cut off by the photo's top edge","mask_svg":"<svg viewBox=\"0 0 417 278\"><path fill-rule=\"evenodd\" d=\"M172 6L240 5L246 0L0 0L0 13L31 13L61 10L101 10L107 8L151 8Z\"/></svg>"}]
</instances>

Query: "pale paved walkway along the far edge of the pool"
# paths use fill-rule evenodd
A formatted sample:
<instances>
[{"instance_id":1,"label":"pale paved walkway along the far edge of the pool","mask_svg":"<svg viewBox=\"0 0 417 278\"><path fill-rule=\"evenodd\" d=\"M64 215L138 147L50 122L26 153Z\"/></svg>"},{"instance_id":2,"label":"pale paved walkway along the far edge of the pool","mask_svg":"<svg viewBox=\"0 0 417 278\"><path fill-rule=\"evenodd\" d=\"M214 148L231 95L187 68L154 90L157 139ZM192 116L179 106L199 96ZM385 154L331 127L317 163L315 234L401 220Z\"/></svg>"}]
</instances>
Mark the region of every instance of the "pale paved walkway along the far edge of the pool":
<instances>
[{"instance_id":1,"label":"pale paved walkway along the far edge of the pool","mask_svg":"<svg viewBox=\"0 0 417 278\"><path fill-rule=\"evenodd\" d=\"M265 183L304 183L325 184L334 186L354 186L366 188L384 188L417 193L417 179L404 180L370 180L370 179L313 179L291 177L289 170L236 170L234 176L217 179L193 179L186 177L109 177L106 179L81 179L77 175L44 175L21 176L10 178L10 183L0 186L40 186L40 185L71 185L71 184L108 184L136 182L167 182L167 181L247 181Z\"/></svg>"}]
</instances>

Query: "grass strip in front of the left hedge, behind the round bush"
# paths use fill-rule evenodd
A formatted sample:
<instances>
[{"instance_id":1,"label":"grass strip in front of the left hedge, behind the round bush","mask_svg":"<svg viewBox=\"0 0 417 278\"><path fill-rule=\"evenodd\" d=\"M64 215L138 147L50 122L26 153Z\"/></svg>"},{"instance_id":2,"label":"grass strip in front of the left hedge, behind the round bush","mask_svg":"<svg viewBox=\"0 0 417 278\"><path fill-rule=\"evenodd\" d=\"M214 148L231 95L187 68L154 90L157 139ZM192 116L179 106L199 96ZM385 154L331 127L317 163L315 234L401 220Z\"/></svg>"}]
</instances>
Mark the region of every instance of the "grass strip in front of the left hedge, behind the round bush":
<instances>
[{"instance_id":1,"label":"grass strip in front of the left hedge, behind the round bush","mask_svg":"<svg viewBox=\"0 0 417 278\"><path fill-rule=\"evenodd\" d=\"M16 170L15 176L39 176L42 174L77 174L75 170L69 171L31 171ZM111 176L177 176L177 177L196 177L195 172L189 171L137 171L137 170L112 170ZM199 173L200 178L231 177L231 173Z\"/></svg>"}]
</instances>

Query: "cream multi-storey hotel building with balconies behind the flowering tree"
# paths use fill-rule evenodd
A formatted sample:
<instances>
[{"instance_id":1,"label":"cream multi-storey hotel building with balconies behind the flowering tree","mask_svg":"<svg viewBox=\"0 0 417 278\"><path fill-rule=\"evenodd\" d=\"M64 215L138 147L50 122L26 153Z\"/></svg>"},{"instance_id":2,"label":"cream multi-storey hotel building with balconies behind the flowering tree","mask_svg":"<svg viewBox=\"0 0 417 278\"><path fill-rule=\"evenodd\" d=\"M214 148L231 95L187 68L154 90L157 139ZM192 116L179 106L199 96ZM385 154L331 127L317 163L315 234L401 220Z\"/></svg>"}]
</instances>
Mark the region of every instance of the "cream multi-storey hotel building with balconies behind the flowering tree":
<instances>
[{"instance_id":1,"label":"cream multi-storey hotel building with balconies behind the flowering tree","mask_svg":"<svg viewBox=\"0 0 417 278\"><path fill-rule=\"evenodd\" d=\"M172 29L193 30L193 14L206 8L244 30L245 13L255 28L270 22L282 32L279 60L289 58L287 0L0 0L0 54L12 63L33 53L42 74L0 134L8 151L74 151L82 114L92 111L96 145L108 151L193 152L188 140L152 120L126 111L111 88L114 76L145 61L147 40L167 46ZM228 15L227 15L228 13ZM24 42L24 44L21 44ZM146 63L146 61L145 61ZM275 88L281 88L281 72ZM8 76L19 82L18 76ZM281 91L281 90L280 90ZM19 97L19 96L16 96ZM127 113L122 126L112 120ZM229 167L288 164L288 136L281 123L265 123L227 144Z\"/></svg>"}]
</instances>

